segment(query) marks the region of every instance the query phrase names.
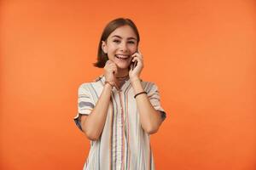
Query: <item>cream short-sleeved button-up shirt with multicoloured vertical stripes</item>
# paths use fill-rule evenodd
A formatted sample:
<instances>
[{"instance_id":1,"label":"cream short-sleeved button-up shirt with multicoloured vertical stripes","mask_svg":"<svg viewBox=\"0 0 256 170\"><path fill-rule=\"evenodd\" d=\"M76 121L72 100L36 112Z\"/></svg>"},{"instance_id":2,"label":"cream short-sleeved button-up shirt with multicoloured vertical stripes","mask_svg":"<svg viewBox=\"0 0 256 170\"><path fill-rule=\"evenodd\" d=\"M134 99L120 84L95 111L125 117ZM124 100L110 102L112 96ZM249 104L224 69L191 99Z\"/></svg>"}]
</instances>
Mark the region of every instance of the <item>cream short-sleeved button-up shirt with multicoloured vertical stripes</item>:
<instances>
[{"instance_id":1,"label":"cream short-sleeved button-up shirt with multicoloured vertical stripes","mask_svg":"<svg viewBox=\"0 0 256 170\"><path fill-rule=\"evenodd\" d=\"M102 94L105 77L102 75L94 82L85 82L79 86L78 114L74 117L81 129L80 116L90 115ZM162 119L166 112L160 106L160 94L154 82L143 82L154 109L160 111ZM96 141L90 141L90 152L84 162L84 170L148 170L154 169L153 153L149 134L140 122L137 102L130 79L120 89L113 88L108 116L102 134Z\"/></svg>"}]
</instances>

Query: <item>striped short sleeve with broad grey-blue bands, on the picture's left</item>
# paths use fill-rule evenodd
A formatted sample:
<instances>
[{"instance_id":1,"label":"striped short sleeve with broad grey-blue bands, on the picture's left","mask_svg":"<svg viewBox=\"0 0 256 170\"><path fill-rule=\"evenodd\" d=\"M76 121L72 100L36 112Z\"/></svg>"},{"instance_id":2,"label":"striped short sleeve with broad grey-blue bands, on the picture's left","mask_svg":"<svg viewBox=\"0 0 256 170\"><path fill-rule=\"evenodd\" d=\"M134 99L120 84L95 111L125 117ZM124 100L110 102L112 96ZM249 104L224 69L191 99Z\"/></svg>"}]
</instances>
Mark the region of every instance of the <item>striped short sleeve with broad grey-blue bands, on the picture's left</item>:
<instances>
[{"instance_id":1,"label":"striped short sleeve with broad grey-blue bands, on the picture's left","mask_svg":"<svg viewBox=\"0 0 256 170\"><path fill-rule=\"evenodd\" d=\"M84 83L79 86L79 95L78 95L78 113L77 116L73 118L77 127L82 130L81 127L81 116L82 115L90 115L90 112L95 107L93 99L90 95L90 90L88 89L88 84Z\"/></svg>"}]
</instances>

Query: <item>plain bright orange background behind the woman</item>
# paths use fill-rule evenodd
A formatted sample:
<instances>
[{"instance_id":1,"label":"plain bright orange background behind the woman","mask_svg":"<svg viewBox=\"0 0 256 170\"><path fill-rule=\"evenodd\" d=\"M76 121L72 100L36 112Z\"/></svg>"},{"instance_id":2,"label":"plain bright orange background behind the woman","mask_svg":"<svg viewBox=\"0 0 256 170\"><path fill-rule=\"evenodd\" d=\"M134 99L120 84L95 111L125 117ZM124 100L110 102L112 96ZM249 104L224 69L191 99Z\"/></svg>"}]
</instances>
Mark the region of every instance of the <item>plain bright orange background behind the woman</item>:
<instances>
[{"instance_id":1,"label":"plain bright orange background behind the woman","mask_svg":"<svg viewBox=\"0 0 256 170\"><path fill-rule=\"evenodd\" d=\"M253 0L1 1L0 168L81 169L73 122L103 27L134 20L143 80L167 112L151 136L157 169L256 169Z\"/></svg>"}]
</instances>

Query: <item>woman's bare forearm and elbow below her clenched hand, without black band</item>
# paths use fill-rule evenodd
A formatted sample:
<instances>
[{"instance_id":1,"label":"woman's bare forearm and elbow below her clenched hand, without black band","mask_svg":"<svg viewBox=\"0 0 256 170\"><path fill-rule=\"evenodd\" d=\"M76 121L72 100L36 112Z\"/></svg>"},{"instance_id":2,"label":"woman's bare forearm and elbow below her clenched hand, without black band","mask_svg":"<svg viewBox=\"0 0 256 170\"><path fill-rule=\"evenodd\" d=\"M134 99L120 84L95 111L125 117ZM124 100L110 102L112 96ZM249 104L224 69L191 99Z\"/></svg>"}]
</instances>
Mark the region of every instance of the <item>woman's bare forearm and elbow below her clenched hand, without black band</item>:
<instances>
[{"instance_id":1,"label":"woman's bare forearm and elbow below her clenched hand, without black band","mask_svg":"<svg viewBox=\"0 0 256 170\"><path fill-rule=\"evenodd\" d=\"M111 97L111 85L104 85L102 94L98 99L96 106L89 116L81 116L81 127L87 138L97 140L103 130L108 115L108 105Z\"/></svg>"}]
</instances>

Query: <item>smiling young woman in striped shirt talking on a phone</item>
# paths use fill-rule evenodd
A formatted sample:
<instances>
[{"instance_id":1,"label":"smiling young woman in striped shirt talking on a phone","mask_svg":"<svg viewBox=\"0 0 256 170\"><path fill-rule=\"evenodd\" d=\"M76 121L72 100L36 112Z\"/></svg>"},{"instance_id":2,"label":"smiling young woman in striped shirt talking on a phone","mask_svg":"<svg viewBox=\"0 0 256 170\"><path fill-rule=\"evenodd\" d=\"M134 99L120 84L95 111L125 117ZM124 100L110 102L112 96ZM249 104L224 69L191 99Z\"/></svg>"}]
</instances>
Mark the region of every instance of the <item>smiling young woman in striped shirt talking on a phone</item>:
<instances>
[{"instance_id":1,"label":"smiling young woman in striped shirt talking on a phone","mask_svg":"<svg viewBox=\"0 0 256 170\"><path fill-rule=\"evenodd\" d=\"M137 26L112 20L102 32L94 64L104 74L79 87L76 125L90 139L84 169L154 169L149 134L166 118L154 82L143 82Z\"/></svg>"}]
</instances>

